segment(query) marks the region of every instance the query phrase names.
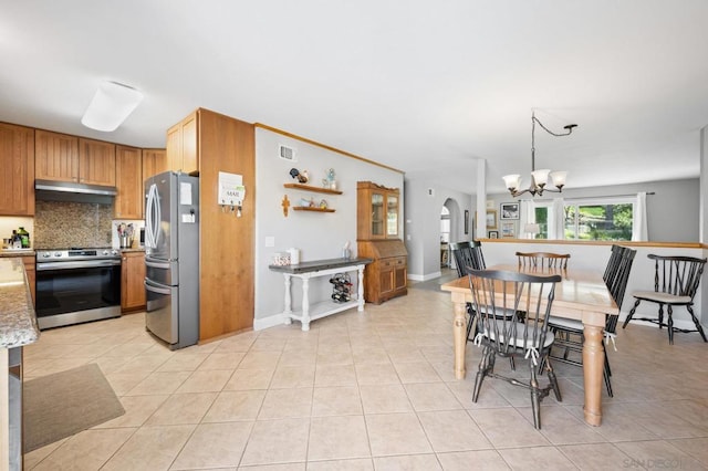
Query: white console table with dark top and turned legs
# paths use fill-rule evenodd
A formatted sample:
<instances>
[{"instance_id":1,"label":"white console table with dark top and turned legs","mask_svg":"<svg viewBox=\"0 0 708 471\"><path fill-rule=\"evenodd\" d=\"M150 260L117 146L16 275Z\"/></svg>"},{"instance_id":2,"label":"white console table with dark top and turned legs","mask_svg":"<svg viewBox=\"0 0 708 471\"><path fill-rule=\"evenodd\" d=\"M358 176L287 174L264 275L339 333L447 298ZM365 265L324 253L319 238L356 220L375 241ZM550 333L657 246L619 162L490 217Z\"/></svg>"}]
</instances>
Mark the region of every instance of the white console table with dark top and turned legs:
<instances>
[{"instance_id":1,"label":"white console table with dark top and turned legs","mask_svg":"<svg viewBox=\"0 0 708 471\"><path fill-rule=\"evenodd\" d=\"M296 265L270 265L269 269L274 272L281 272L285 278L285 307L282 313L285 324L292 323L293 320L302 323L302 329L310 329L310 322L317 318L346 311L357 306L357 311L364 311L364 268L371 263L372 259L330 259L314 260L303 262ZM336 303L332 300L321 301L310 304L310 279L319 276L327 276L341 272L356 271L358 273L358 282L356 285L356 297L344 303ZM300 311L292 310L291 285L292 279L302 280L302 308Z\"/></svg>"}]
</instances>

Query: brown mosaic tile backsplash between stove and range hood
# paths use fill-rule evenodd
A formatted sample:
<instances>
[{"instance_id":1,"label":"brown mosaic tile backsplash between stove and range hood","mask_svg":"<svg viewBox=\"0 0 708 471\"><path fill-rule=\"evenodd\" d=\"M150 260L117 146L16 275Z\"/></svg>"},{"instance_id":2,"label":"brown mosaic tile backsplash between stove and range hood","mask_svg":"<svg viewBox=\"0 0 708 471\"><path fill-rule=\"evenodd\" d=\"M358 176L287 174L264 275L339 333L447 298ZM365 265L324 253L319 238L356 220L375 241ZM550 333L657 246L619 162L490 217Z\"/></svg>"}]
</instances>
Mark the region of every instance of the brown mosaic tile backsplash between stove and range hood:
<instances>
[{"instance_id":1,"label":"brown mosaic tile backsplash between stove and range hood","mask_svg":"<svg viewBox=\"0 0 708 471\"><path fill-rule=\"evenodd\" d=\"M38 200L33 248L111 247L112 219L112 205Z\"/></svg>"}]
</instances>

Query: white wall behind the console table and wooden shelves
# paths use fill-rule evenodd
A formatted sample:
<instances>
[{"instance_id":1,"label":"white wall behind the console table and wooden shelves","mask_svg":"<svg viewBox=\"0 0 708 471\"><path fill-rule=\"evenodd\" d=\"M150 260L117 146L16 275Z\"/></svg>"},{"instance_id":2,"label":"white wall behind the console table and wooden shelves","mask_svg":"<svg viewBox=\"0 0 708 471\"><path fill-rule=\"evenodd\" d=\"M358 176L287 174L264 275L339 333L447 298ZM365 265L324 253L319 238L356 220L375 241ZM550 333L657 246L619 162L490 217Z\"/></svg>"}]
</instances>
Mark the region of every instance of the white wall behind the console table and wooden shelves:
<instances>
[{"instance_id":1,"label":"white wall behind the console table and wooden shelves","mask_svg":"<svg viewBox=\"0 0 708 471\"><path fill-rule=\"evenodd\" d=\"M278 146L295 149L295 163L283 160ZM322 186L329 168L336 172L337 189L342 195L324 195L288 189L283 184L296 182L289 175L291 168L308 170L308 185ZM268 265L275 252L289 248L300 249L300 261L326 260L341 257L342 247L350 242L352 257L356 255L356 182L373 181L389 188L403 189L404 175L366 163L341 153L287 137L261 127L256 128L256 300L254 328L263 328L281 322L283 311L283 275L272 272ZM247 198L248 198L247 188ZM288 217L281 206L283 196L290 199ZM251 192L251 197L253 192ZM325 199L335 212L293 211L301 198L313 197L316 202ZM402 191L402 208L407 206ZM400 221L400 233L405 227ZM228 234L225 234L228 237ZM274 247L266 247L266 239L273 238ZM293 282L293 307L301 305L301 285ZM311 302L329 299L332 285L329 279L315 279L310 283Z\"/></svg>"}]
</instances>

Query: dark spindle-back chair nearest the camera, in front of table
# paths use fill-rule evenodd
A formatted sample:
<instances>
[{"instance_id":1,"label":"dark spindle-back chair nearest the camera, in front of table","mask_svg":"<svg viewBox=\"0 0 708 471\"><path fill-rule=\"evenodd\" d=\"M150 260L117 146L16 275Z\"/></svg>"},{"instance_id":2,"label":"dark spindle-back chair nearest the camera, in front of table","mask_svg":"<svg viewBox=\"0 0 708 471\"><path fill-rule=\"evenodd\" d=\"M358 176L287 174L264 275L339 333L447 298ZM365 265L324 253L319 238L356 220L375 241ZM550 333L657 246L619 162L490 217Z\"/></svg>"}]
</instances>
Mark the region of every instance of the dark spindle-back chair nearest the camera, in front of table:
<instances>
[{"instance_id":1,"label":"dark spindle-back chair nearest the camera, in front of table","mask_svg":"<svg viewBox=\"0 0 708 471\"><path fill-rule=\"evenodd\" d=\"M478 335L475 343L482 347L479 368L475 378L472 402L477 402L486 377L502 379L531 393L533 425L541 428L541 400L551 390L560 401L561 390L548 357L554 335L548 320L561 276L532 275L516 271L471 270L469 284L472 291L472 308L478 313ZM508 312L524 311L524 322ZM529 365L529 377L512 377L494 373L496 358L516 358ZM540 386L537 366L544 360L549 384ZM518 376L518 375L516 375Z\"/></svg>"}]
</instances>

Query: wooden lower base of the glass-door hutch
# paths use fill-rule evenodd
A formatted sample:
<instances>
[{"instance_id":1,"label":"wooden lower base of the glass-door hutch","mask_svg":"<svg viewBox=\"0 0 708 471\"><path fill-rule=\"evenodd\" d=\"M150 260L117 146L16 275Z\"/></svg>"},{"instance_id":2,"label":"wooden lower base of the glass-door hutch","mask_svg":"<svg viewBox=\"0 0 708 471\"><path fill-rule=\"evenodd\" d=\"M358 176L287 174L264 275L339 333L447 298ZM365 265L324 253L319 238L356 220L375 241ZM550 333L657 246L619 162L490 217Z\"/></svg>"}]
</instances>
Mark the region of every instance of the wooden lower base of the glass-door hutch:
<instances>
[{"instance_id":1,"label":"wooden lower base of the glass-door hutch","mask_svg":"<svg viewBox=\"0 0 708 471\"><path fill-rule=\"evenodd\" d=\"M357 242L357 255L374 259L364 270L364 299L381 304L408 294L408 252L400 240Z\"/></svg>"}]
</instances>

